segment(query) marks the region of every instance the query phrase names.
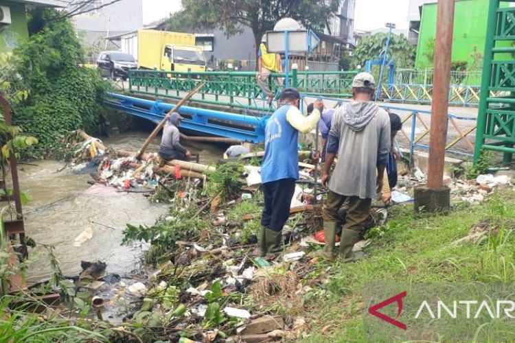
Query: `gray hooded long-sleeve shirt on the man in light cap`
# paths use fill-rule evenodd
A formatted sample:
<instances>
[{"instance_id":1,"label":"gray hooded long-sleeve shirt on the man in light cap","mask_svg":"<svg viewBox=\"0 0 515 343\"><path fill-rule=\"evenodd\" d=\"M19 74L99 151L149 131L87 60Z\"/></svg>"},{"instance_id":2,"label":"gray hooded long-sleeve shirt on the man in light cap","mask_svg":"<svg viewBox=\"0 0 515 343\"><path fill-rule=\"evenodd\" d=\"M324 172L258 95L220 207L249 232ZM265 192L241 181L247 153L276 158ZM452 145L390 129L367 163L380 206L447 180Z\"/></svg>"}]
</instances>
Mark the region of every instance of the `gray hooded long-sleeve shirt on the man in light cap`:
<instances>
[{"instance_id":1,"label":"gray hooded long-sleeve shirt on the man in light cap","mask_svg":"<svg viewBox=\"0 0 515 343\"><path fill-rule=\"evenodd\" d=\"M377 167L387 164L390 151L388 113L374 102L344 104L332 118L327 150L338 156L329 181L330 191L374 198Z\"/></svg>"}]
</instances>

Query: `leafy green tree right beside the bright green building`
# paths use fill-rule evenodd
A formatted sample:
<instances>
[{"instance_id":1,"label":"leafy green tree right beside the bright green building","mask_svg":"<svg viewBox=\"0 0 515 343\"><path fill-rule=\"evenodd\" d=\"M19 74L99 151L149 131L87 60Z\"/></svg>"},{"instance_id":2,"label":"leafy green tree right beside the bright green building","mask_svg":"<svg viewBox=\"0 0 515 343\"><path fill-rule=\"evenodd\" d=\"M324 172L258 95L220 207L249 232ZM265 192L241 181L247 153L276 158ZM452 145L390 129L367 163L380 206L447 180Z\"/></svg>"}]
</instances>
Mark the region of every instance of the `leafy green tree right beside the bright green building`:
<instances>
[{"instance_id":1,"label":"leafy green tree right beside the bright green building","mask_svg":"<svg viewBox=\"0 0 515 343\"><path fill-rule=\"evenodd\" d=\"M365 65L367 60L377 60L385 51L387 34L378 33L364 37L354 50L353 64ZM415 63L415 47L403 35L392 34L388 48L388 60L396 62L398 68L411 68Z\"/></svg>"}]
</instances>

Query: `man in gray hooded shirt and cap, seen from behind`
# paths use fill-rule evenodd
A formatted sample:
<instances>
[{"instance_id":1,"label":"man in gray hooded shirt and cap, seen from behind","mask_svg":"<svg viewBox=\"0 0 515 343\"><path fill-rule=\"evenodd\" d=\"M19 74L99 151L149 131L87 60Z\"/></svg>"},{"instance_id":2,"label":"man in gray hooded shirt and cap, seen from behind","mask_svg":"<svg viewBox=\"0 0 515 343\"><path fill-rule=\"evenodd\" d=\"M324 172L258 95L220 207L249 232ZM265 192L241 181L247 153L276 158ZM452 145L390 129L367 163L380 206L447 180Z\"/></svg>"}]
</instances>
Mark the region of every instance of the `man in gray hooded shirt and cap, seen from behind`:
<instances>
[{"instance_id":1,"label":"man in gray hooded shirt and cap, seen from behind","mask_svg":"<svg viewBox=\"0 0 515 343\"><path fill-rule=\"evenodd\" d=\"M334 258L335 235L343 222L338 210L343 202L349 200L349 210L339 256L352 261L352 247L367 223L371 199L382 188L390 151L390 121L388 113L372 102L374 89L372 75L356 75L352 82L354 99L337 109L332 118L322 176L322 185L327 187L329 171L338 154L322 212L325 248L321 255L328 259Z\"/></svg>"}]
</instances>

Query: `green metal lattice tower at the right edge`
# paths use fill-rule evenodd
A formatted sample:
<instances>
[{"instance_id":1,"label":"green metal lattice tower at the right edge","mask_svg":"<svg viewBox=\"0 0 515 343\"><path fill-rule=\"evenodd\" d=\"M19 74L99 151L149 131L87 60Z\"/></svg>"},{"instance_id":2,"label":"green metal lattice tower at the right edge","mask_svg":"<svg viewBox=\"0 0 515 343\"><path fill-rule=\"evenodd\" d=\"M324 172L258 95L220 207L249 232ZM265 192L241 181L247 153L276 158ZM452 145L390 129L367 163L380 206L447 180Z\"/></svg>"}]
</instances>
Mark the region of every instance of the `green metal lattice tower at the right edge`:
<instances>
[{"instance_id":1,"label":"green metal lattice tower at the right edge","mask_svg":"<svg viewBox=\"0 0 515 343\"><path fill-rule=\"evenodd\" d=\"M505 163L515 153L515 7L506 3L515 0L490 0L474 161L481 150L503 152Z\"/></svg>"}]
</instances>

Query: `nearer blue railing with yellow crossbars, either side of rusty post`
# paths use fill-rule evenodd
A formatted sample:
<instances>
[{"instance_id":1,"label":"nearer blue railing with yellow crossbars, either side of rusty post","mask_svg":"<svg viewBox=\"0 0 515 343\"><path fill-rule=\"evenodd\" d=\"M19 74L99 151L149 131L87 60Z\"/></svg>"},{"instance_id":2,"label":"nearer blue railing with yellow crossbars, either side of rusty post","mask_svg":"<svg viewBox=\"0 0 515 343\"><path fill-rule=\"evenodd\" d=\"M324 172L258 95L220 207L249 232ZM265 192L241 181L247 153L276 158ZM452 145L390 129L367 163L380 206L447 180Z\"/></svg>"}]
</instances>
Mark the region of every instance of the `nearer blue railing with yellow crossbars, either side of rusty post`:
<instances>
[{"instance_id":1,"label":"nearer blue railing with yellow crossbars, either side of rusty post","mask_svg":"<svg viewBox=\"0 0 515 343\"><path fill-rule=\"evenodd\" d=\"M338 102L348 102L349 99L338 99L334 97L321 97L326 106L328 102L334 106ZM310 99L309 101L307 99ZM302 108L313 100L312 95L302 94ZM414 108L403 108L397 106L380 105L385 110L397 113L402 119L404 125L401 132L397 135L397 140L409 149L410 161L413 161L415 149L428 150L429 128L431 120L431 111L419 110ZM446 141L446 152L460 156L471 157L474 152L474 141L470 139L470 135L477 128L477 119L475 117L467 117L464 115L455 115L448 113L448 131Z\"/></svg>"}]
</instances>

